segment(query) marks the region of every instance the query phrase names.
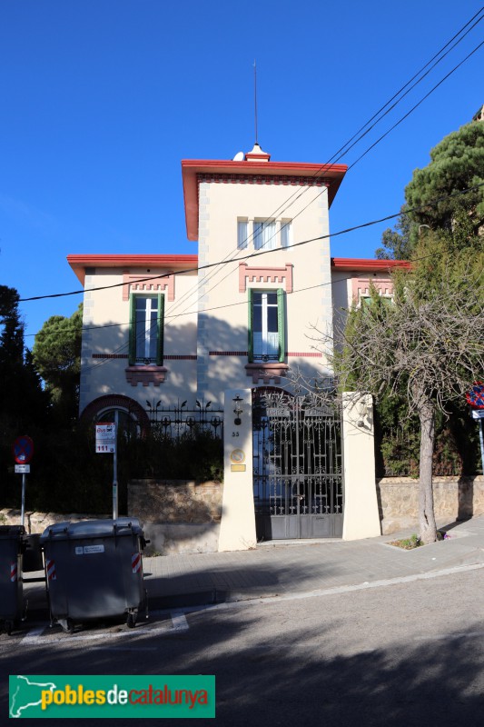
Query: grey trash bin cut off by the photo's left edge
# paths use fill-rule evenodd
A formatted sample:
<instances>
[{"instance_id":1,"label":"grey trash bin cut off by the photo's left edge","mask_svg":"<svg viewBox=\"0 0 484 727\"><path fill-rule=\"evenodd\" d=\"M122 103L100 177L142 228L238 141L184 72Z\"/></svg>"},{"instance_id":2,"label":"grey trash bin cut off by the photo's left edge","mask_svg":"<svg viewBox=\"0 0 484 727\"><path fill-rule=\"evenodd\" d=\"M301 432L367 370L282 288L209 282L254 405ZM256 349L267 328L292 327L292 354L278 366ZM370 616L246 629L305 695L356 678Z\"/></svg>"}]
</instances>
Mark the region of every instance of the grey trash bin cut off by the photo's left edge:
<instances>
[{"instance_id":1,"label":"grey trash bin cut off by the photo's left edge","mask_svg":"<svg viewBox=\"0 0 484 727\"><path fill-rule=\"evenodd\" d=\"M0 623L7 633L12 632L24 616L24 538L22 525L0 525Z\"/></svg>"}]
</instances>

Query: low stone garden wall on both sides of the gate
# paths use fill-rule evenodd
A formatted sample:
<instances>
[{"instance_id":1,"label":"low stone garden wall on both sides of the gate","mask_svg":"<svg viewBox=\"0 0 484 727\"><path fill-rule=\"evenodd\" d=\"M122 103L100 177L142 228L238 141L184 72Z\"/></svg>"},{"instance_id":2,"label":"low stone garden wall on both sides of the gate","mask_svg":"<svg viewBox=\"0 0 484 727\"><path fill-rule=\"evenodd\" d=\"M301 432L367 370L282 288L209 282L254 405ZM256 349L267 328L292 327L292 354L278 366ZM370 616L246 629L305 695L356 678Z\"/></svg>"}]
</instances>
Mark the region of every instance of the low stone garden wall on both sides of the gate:
<instances>
[{"instance_id":1,"label":"low stone garden wall on both sides of the gate","mask_svg":"<svg viewBox=\"0 0 484 727\"><path fill-rule=\"evenodd\" d=\"M439 527L484 514L484 477L434 479ZM419 481L386 477L377 481L381 533L419 528ZM145 554L215 553L222 519L222 483L133 480L128 485L128 515L143 523L151 541ZM103 517L89 514L25 513L25 529L43 533L52 524ZM110 514L104 515L111 517ZM20 523L20 511L0 511L0 524Z\"/></svg>"}]
</instances>

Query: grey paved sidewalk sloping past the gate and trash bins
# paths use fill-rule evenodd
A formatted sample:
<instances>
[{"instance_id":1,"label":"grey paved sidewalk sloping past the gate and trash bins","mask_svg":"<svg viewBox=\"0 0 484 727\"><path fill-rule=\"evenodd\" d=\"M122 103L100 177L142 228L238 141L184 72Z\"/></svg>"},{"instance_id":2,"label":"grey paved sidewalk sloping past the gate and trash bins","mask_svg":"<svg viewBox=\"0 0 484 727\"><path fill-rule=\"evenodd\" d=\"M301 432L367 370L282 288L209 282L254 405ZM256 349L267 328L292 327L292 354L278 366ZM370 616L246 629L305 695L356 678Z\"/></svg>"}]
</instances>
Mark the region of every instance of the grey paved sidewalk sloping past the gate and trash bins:
<instances>
[{"instance_id":1,"label":"grey paved sidewalk sloping past the gate and trash bins","mask_svg":"<svg viewBox=\"0 0 484 727\"><path fill-rule=\"evenodd\" d=\"M484 565L484 516L448 526L449 538L412 551L393 533L360 541L272 541L251 551L143 558L150 610L312 593ZM25 578L43 573L25 573ZM47 619L44 583L25 583L32 619Z\"/></svg>"}]
</instances>

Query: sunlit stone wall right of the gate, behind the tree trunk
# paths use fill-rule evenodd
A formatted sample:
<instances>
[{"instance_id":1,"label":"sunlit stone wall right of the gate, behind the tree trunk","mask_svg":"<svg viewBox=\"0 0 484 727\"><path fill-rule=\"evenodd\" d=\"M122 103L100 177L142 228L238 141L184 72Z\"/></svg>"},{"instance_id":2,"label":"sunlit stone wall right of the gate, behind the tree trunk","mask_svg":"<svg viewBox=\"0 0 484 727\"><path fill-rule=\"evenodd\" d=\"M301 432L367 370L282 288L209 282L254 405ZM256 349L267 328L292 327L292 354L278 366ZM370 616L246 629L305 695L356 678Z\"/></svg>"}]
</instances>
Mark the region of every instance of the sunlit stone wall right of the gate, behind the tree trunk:
<instances>
[{"instance_id":1,"label":"sunlit stone wall right of the gate, behind the tree trunk","mask_svg":"<svg viewBox=\"0 0 484 727\"><path fill-rule=\"evenodd\" d=\"M484 514L484 477L438 477L433 482L435 518L439 527ZM419 481L386 477L377 482L381 533L419 526Z\"/></svg>"}]
</instances>

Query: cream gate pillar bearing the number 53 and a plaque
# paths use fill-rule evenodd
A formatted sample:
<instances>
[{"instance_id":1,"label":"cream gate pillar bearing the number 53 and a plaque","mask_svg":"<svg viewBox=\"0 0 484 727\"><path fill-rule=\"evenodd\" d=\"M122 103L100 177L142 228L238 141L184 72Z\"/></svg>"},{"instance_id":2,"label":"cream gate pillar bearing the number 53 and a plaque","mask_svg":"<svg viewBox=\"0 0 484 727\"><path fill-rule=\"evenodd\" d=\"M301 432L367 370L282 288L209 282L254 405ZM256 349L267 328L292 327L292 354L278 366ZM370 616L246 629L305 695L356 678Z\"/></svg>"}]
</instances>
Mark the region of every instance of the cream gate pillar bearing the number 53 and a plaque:
<instances>
[{"instance_id":1,"label":"cream gate pillar bearing the number 53 and a plaque","mask_svg":"<svg viewBox=\"0 0 484 727\"><path fill-rule=\"evenodd\" d=\"M252 485L252 392L225 392L223 500L219 552L255 547Z\"/></svg>"}]
</instances>

